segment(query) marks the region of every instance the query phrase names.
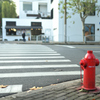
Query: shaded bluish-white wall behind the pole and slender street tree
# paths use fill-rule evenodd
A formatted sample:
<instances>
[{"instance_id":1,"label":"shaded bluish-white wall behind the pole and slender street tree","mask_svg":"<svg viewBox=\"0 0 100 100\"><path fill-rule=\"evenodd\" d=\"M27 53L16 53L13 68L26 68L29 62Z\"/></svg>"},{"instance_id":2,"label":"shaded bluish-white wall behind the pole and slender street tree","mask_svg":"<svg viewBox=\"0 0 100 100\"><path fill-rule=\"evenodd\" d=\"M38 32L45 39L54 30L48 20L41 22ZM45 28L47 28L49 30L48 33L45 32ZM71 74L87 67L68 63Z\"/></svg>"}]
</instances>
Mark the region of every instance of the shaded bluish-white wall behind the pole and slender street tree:
<instances>
[{"instance_id":1,"label":"shaded bluish-white wall behind the pole and slender street tree","mask_svg":"<svg viewBox=\"0 0 100 100\"><path fill-rule=\"evenodd\" d=\"M100 0L98 0L97 4L100 5ZM82 22L80 19L80 15L79 14L72 15L71 10L69 10L69 13L71 14L72 17L67 19L67 27L66 27L67 42L83 42ZM96 14L97 12L95 13L95 16L87 17L85 24L95 24L95 41L100 41L100 24L99 24L100 17L98 17ZM60 37L59 41L63 41L64 39L64 18L62 19L60 18L62 15L63 14L59 13L59 31L58 31ZM74 24L73 21L75 21ZM97 28L99 28L99 31L97 31Z\"/></svg>"}]
</instances>

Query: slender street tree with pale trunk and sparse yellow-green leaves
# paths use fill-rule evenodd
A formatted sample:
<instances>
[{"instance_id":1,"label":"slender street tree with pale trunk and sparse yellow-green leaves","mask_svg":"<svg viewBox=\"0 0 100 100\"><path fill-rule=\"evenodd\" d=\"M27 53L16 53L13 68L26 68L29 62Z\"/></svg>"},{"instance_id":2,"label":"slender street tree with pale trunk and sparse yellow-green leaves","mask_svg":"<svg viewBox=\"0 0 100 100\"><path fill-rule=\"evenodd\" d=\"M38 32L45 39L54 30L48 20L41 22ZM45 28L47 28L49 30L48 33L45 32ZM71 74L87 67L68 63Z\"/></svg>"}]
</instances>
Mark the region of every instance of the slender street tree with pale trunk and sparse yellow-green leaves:
<instances>
[{"instance_id":1,"label":"slender street tree with pale trunk and sparse yellow-green leaves","mask_svg":"<svg viewBox=\"0 0 100 100\"><path fill-rule=\"evenodd\" d=\"M96 5L97 0L69 0L69 2L63 2L60 0L59 2L59 10L61 13L64 13L65 8L67 8L67 18L71 18L69 15L69 10L72 10L72 15L78 13L80 15L82 21L82 33L83 33L83 42L85 36L85 19L90 15L93 14L96 10L98 13L100 12L100 7Z\"/></svg>"}]
</instances>

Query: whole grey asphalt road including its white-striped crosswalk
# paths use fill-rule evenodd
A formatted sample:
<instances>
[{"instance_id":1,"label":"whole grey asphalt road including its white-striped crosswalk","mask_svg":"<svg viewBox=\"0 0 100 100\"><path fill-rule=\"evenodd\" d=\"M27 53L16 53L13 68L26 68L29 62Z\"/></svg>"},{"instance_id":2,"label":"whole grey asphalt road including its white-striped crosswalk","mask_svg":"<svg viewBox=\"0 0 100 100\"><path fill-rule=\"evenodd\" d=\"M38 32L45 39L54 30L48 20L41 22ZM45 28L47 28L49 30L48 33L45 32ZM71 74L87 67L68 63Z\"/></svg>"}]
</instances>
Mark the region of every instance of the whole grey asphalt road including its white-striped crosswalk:
<instances>
[{"instance_id":1,"label":"whole grey asphalt road including its white-striped crosswalk","mask_svg":"<svg viewBox=\"0 0 100 100\"><path fill-rule=\"evenodd\" d=\"M100 59L99 45L1 44L0 84L8 85L12 89L9 93L16 93L79 79L79 62L87 50ZM96 74L100 74L100 66ZM0 96L8 95L8 90L1 89Z\"/></svg>"}]
</instances>

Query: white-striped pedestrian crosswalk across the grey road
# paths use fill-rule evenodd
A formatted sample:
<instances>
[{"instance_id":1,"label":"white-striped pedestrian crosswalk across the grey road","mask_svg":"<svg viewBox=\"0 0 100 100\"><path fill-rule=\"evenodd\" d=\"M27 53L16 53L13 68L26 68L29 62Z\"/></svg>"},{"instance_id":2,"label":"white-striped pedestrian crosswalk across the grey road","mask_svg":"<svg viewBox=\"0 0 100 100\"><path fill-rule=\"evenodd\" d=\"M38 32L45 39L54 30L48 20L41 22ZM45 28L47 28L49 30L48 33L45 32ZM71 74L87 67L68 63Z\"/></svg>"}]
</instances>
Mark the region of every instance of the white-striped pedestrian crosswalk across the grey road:
<instances>
[{"instance_id":1,"label":"white-striped pedestrian crosswalk across the grey road","mask_svg":"<svg viewBox=\"0 0 100 100\"><path fill-rule=\"evenodd\" d=\"M53 70L53 68L55 69L66 68L66 70L55 71ZM53 49L45 45L24 45L24 44L0 45L0 79L16 78L16 77L32 78L32 77L46 77L46 76L53 77L53 76L80 75L80 71L78 70L69 71L67 68L79 68L79 65L72 64L70 59L66 59L64 56L57 53L57 51L54 51ZM24 72L21 72L21 70L23 69ZM40 69L40 70L37 72L32 72L31 69L33 70ZM42 69L46 69L46 71L42 71ZM5 83L7 82L5 81ZM15 88L16 86L17 85L15 85ZM9 86L8 89L10 87L12 86ZM22 88L22 84L19 86L19 88ZM16 91L12 89L14 91L11 92L21 92L22 89L19 88L18 90L15 89ZM5 90L0 89L1 91L0 93L5 93L5 91L9 90L7 90L7 88Z\"/></svg>"}]
</instances>

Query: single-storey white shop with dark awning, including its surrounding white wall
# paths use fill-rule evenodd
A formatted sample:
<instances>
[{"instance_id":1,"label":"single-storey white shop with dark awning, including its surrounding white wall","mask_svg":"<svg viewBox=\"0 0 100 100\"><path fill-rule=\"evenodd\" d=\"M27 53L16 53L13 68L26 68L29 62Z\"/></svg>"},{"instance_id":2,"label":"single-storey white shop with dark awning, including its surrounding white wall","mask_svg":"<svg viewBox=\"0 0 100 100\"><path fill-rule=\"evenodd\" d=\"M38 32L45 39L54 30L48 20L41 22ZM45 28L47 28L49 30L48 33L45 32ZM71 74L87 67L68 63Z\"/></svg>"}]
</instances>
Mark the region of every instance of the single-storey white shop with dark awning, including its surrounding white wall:
<instances>
[{"instance_id":1,"label":"single-storey white shop with dark awning, including its surrounding white wall","mask_svg":"<svg viewBox=\"0 0 100 100\"><path fill-rule=\"evenodd\" d=\"M46 19L17 19L3 18L3 41L22 41L25 31L26 41L42 41L43 36L52 37L52 32L47 34L47 29L52 30L52 21Z\"/></svg>"}]
</instances>

